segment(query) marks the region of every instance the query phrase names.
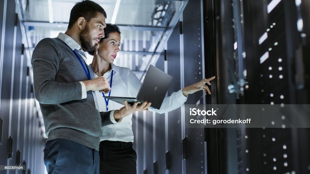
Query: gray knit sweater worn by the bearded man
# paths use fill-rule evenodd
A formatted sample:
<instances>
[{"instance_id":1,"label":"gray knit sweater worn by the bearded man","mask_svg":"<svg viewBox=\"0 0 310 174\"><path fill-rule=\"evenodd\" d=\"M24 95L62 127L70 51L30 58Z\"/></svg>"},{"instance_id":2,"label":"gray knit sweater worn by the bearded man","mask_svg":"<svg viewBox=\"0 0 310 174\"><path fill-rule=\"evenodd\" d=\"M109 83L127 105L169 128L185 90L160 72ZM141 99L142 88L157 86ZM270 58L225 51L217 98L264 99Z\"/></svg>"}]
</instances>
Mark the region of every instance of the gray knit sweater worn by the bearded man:
<instances>
[{"instance_id":1,"label":"gray knit sweater worn by the bearded man","mask_svg":"<svg viewBox=\"0 0 310 174\"><path fill-rule=\"evenodd\" d=\"M34 49L31 62L48 140L64 138L99 151L101 126L112 124L110 112L95 109L92 91L81 99L80 81L88 78L71 48L59 38L45 38ZM93 79L94 72L88 69Z\"/></svg>"}]
</instances>

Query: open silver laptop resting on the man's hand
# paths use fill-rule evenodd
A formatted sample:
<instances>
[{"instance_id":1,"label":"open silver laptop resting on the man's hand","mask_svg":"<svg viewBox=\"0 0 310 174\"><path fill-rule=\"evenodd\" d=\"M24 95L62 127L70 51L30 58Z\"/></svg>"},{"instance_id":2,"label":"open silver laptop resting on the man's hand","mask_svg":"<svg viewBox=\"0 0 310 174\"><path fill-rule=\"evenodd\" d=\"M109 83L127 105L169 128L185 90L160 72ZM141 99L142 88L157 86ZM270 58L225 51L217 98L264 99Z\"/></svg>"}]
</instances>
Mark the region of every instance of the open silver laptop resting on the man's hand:
<instances>
[{"instance_id":1,"label":"open silver laptop resting on the man's hand","mask_svg":"<svg viewBox=\"0 0 310 174\"><path fill-rule=\"evenodd\" d=\"M171 80L172 77L170 75L157 67L150 65L136 98L105 96L104 98L120 104L124 104L124 100L126 100L129 105L133 105L135 102L138 102L139 104L142 104L143 102L152 102L150 108L160 109Z\"/></svg>"}]
</instances>

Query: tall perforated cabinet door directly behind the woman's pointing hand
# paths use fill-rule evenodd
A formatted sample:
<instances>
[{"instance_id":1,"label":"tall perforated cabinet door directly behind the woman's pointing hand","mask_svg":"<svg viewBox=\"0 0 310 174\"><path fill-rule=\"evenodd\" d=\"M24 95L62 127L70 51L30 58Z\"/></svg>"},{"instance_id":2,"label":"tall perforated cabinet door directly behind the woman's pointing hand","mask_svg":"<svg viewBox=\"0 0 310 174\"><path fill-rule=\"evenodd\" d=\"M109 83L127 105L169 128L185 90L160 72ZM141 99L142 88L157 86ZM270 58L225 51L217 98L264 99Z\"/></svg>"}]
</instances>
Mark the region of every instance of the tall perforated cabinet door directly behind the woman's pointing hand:
<instances>
[{"instance_id":1,"label":"tall perforated cabinet door directly behind the woman's pointing hand","mask_svg":"<svg viewBox=\"0 0 310 174\"><path fill-rule=\"evenodd\" d=\"M196 83L203 78L204 55L202 54L201 1L189 1L183 12L184 32L184 86ZM191 14L191 15L187 15ZM187 71L191 70L191 71ZM188 96L188 104L203 104L203 92ZM189 114L185 111L185 114ZM204 129L186 128L186 173L205 172Z\"/></svg>"}]
</instances>

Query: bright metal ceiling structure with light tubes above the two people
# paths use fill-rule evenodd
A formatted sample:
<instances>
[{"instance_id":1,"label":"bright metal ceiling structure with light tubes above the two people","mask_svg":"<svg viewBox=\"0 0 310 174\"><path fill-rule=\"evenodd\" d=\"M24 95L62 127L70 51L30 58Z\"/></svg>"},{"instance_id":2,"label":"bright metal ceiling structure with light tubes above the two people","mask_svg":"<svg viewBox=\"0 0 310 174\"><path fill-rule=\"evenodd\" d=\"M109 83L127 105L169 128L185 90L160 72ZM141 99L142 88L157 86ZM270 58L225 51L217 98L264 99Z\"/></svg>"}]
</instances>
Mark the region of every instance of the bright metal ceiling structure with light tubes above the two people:
<instances>
[{"instance_id":1,"label":"bright metal ceiling structure with light tubes above the two people","mask_svg":"<svg viewBox=\"0 0 310 174\"><path fill-rule=\"evenodd\" d=\"M43 38L56 37L68 27L70 11L78 0L19 0L28 46L27 54ZM145 70L157 61L176 19L184 9L183 1L95 0L107 13L107 23L120 27L121 52L115 64L135 70L143 79ZM169 32L170 31L170 32ZM163 40L162 40L163 39ZM89 56L91 63L92 57ZM134 60L134 61L133 61ZM140 72L140 73L139 73Z\"/></svg>"}]
</instances>

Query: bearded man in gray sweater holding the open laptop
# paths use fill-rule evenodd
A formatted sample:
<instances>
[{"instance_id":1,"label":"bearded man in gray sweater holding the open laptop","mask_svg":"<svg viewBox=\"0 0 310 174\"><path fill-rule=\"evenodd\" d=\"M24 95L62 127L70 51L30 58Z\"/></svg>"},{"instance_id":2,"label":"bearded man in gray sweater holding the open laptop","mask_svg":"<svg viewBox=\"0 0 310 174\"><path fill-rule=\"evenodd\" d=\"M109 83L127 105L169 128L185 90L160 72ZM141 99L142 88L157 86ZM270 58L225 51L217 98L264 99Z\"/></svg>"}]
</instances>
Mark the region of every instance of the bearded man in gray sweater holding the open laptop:
<instances>
[{"instance_id":1,"label":"bearded man in gray sweater holding the open laptop","mask_svg":"<svg viewBox=\"0 0 310 174\"><path fill-rule=\"evenodd\" d=\"M46 135L44 163L48 173L99 173L101 126L116 124L137 104L99 112L93 91L110 86L86 63L84 51L93 52L104 37L106 12L92 1L75 4L68 29L56 38L42 39L33 51L35 97L40 103Z\"/></svg>"}]
</instances>

